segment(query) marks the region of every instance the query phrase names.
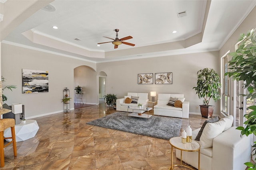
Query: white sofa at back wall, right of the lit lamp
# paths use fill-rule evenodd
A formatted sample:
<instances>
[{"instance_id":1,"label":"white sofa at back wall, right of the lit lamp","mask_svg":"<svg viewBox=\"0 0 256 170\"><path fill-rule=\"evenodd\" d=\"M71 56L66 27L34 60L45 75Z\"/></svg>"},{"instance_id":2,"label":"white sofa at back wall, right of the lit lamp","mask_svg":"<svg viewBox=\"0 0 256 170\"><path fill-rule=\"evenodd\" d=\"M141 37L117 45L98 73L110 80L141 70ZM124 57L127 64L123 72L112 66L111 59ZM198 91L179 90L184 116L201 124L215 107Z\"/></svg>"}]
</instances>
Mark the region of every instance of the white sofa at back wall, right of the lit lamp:
<instances>
[{"instance_id":1,"label":"white sofa at back wall, right of the lit lamp","mask_svg":"<svg viewBox=\"0 0 256 170\"><path fill-rule=\"evenodd\" d=\"M170 97L184 99L184 94L158 94L157 105L154 106L154 115L180 117L188 119L189 101L184 101L182 103L182 108L167 106Z\"/></svg>"}]
</instances>

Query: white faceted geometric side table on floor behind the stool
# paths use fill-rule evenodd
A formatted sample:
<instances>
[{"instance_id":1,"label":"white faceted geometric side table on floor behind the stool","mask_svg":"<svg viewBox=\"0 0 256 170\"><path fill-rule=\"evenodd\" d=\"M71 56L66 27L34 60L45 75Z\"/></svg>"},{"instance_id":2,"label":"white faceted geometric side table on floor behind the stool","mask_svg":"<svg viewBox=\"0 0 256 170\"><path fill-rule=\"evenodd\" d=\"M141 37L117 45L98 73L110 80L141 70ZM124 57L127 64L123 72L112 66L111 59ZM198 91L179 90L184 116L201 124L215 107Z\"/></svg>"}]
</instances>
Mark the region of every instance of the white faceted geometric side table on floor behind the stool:
<instances>
[{"instance_id":1,"label":"white faceted geometric side table on floor behind the stool","mask_svg":"<svg viewBox=\"0 0 256 170\"><path fill-rule=\"evenodd\" d=\"M16 142L20 141L26 141L27 139L30 139L34 137L39 129L39 126L36 122L36 120L28 119L26 120L26 123L20 123L18 125L15 125L15 136L16 136ZM4 131L4 137L10 137L11 135L11 128L7 128ZM10 142L10 139L6 139L6 141Z\"/></svg>"}]
</instances>

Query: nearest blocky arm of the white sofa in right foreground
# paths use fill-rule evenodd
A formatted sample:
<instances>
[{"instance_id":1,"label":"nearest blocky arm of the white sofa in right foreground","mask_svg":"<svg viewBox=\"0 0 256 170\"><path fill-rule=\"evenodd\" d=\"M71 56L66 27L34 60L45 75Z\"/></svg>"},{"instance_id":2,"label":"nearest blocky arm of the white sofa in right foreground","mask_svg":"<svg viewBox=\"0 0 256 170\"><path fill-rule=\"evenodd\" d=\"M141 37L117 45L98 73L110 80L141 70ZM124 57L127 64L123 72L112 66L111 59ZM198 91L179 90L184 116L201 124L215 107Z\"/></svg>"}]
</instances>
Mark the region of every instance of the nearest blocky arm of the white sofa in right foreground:
<instances>
[{"instance_id":1,"label":"nearest blocky arm of the white sofa in right foreground","mask_svg":"<svg viewBox=\"0 0 256 170\"><path fill-rule=\"evenodd\" d=\"M213 139L212 170L244 170L250 162L251 135L240 137L236 127L224 131Z\"/></svg>"}]
</instances>

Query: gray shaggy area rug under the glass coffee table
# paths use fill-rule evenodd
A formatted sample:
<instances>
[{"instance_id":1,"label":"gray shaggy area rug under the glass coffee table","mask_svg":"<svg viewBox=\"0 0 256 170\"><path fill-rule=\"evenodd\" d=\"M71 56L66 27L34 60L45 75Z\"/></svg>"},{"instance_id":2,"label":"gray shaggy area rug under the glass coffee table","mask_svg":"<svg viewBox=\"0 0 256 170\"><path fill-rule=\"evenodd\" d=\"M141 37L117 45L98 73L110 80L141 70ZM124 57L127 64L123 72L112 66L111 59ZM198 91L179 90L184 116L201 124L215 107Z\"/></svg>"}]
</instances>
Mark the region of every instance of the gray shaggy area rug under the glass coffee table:
<instances>
[{"instance_id":1,"label":"gray shaggy area rug under the glass coffee table","mask_svg":"<svg viewBox=\"0 0 256 170\"><path fill-rule=\"evenodd\" d=\"M180 134L182 119L154 115L147 119L115 112L86 124L169 140Z\"/></svg>"}]
</instances>

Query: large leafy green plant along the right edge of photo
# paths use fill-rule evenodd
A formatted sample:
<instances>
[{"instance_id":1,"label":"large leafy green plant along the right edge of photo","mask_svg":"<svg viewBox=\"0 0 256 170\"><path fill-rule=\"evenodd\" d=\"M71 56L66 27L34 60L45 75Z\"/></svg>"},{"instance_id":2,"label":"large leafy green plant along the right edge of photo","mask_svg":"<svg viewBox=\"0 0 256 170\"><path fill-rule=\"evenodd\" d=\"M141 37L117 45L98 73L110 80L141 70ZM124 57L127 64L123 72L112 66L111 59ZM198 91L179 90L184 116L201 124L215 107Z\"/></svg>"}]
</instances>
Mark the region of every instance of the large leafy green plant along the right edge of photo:
<instances>
[{"instance_id":1,"label":"large leafy green plant along the right edge of photo","mask_svg":"<svg viewBox=\"0 0 256 170\"><path fill-rule=\"evenodd\" d=\"M233 80L244 81L244 87L247 88L248 94L243 94L246 99L256 98L256 33L255 29L253 31L248 31L245 35L240 34L238 42L240 42L236 52L230 53L232 59L228 62L230 72L227 72L224 76L232 77ZM249 106L248 109L252 111L245 114L246 121L244 124L246 127L237 127L236 129L241 130L241 135L250 135L253 133L256 135L256 106ZM256 142L254 142L256 143ZM249 147L249 146L248 146ZM253 146L253 155L256 155L256 144ZM256 170L256 164L251 162L246 162L248 170Z\"/></svg>"}]
</instances>

